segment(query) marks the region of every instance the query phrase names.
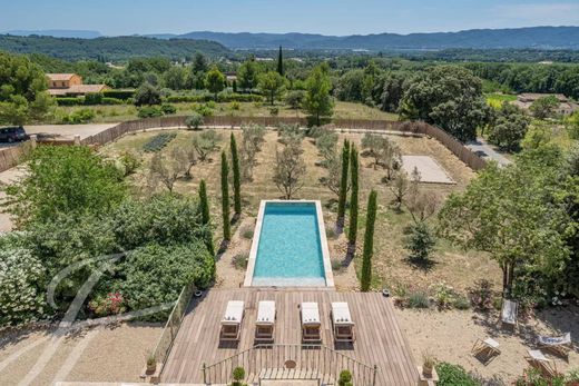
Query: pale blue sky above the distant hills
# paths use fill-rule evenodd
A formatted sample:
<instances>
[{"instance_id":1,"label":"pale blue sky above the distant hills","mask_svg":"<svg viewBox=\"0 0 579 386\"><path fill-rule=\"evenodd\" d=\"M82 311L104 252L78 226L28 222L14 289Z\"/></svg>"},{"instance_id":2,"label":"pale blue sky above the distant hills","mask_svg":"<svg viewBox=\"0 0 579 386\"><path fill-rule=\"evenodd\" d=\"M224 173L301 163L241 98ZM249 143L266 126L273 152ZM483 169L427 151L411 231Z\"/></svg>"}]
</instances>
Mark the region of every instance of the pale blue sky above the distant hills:
<instances>
[{"instance_id":1,"label":"pale blue sky above the distant hills","mask_svg":"<svg viewBox=\"0 0 579 386\"><path fill-rule=\"evenodd\" d=\"M579 26L579 0L0 0L0 31L367 34Z\"/></svg>"}]
</instances>

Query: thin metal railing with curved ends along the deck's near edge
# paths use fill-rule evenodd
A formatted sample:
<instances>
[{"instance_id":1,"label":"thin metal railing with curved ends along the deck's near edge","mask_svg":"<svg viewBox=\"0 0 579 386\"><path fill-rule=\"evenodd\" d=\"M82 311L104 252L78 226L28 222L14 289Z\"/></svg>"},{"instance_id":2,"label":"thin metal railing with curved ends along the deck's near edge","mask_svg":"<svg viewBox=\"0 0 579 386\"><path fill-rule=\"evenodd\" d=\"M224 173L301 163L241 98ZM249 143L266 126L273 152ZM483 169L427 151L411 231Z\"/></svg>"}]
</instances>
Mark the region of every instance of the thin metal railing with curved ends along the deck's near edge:
<instances>
[{"instance_id":1,"label":"thin metal railing with curved ends along the deck's near edge","mask_svg":"<svg viewBox=\"0 0 579 386\"><path fill-rule=\"evenodd\" d=\"M287 370L292 363L293 372ZM226 359L200 368L204 384L227 384L236 367L245 369L247 383L259 382L263 374L278 379L291 374L293 379L320 379L337 383L342 370L350 370L356 386L375 386L377 367L369 366L340 352L322 345L256 345ZM285 372L284 372L285 369Z\"/></svg>"}]
</instances>

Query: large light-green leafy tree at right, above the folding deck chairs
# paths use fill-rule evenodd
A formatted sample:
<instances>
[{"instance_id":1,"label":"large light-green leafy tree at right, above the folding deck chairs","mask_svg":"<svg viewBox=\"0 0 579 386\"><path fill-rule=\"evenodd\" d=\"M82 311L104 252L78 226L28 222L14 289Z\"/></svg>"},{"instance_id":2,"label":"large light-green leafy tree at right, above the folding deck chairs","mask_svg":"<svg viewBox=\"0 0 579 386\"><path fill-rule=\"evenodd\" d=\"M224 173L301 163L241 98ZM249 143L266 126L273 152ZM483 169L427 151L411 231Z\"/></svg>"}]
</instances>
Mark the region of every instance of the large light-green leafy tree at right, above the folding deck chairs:
<instances>
[{"instance_id":1,"label":"large light-green leafy tree at right, above the folding deck chairs","mask_svg":"<svg viewBox=\"0 0 579 386\"><path fill-rule=\"evenodd\" d=\"M565 207L549 198L560 158L559 150L542 147L523 152L513 165L490 165L464 192L451 195L439 214L443 236L497 260L506 296L521 269L557 275L569 256Z\"/></svg>"}]
</instances>

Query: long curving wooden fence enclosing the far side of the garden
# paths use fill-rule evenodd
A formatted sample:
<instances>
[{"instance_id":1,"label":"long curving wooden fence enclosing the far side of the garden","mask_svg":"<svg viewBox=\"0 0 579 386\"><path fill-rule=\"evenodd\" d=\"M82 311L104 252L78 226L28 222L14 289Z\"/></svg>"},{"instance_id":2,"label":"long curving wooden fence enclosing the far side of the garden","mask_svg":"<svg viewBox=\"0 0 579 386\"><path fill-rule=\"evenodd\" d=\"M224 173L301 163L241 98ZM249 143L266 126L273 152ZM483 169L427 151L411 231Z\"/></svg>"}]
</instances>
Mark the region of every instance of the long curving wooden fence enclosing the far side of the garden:
<instances>
[{"instance_id":1,"label":"long curving wooden fence enclosing the far side of the garden","mask_svg":"<svg viewBox=\"0 0 579 386\"><path fill-rule=\"evenodd\" d=\"M119 123L95 136L81 140L84 145L105 145L130 132L138 132L154 128L184 128L187 117L163 117L131 120ZM213 127L239 127L245 123L256 123L263 126L303 125L305 118L297 117L206 117L204 126ZM473 170L480 170L487 166L487 161L454 139L445 131L425 122L392 121L392 120L370 120L370 119L334 119L332 125L336 129L374 130L374 131L399 131L401 133L413 133L432 137L439 140L461 161Z\"/></svg>"}]
</instances>

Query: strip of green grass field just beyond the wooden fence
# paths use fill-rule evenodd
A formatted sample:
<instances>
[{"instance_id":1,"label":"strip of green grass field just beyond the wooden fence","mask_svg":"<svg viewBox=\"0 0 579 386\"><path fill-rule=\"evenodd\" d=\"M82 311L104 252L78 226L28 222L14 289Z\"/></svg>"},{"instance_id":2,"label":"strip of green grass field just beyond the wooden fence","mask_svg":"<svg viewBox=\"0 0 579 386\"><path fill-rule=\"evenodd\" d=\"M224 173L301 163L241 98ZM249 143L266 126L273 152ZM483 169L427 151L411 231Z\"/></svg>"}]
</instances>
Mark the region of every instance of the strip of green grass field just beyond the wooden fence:
<instances>
[{"instance_id":1,"label":"strip of green grass field just beyond the wooden fence","mask_svg":"<svg viewBox=\"0 0 579 386\"><path fill-rule=\"evenodd\" d=\"M184 116L192 113L198 103L174 103L177 108L176 115ZM290 109L284 105L276 105L279 117L305 117L301 110ZM91 109L96 113L94 122L120 122L125 120L137 119L137 108L131 105L120 106L75 106L59 107L56 113L58 123L66 113L71 113L80 109ZM271 106L266 103L216 103L213 110L215 116L242 116L242 117L271 117ZM334 107L333 118L349 119L389 119L398 120L398 115L381 111L377 108L371 108L362 103L341 102L337 101Z\"/></svg>"}]
</instances>

